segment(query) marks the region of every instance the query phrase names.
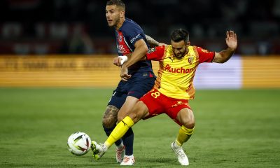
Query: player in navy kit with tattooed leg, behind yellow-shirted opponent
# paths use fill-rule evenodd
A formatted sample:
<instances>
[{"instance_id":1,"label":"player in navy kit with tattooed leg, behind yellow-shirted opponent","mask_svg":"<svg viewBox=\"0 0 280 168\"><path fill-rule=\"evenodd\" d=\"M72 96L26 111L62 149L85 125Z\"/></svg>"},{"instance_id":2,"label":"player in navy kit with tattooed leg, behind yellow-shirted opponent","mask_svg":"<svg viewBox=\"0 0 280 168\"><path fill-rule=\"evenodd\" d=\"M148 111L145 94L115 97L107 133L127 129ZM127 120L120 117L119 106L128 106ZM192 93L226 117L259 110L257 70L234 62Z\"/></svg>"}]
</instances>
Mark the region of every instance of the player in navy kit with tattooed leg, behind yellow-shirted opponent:
<instances>
[{"instance_id":1,"label":"player in navy kit with tattooed leg, behind yellow-shirted opponent","mask_svg":"<svg viewBox=\"0 0 280 168\"><path fill-rule=\"evenodd\" d=\"M121 0L110 0L106 3L106 19L109 27L115 28L118 55L128 57L127 62L121 66L122 80L113 91L102 120L104 131L109 136L116 127L118 118L127 116L139 98L153 88L155 75L151 61L140 59L145 57L148 51L148 41L153 45L159 43L149 36L147 41L141 27L133 20L125 18L125 4ZM116 141L116 160L120 165L134 165L133 141L132 129ZM92 146L94 143L92 141Z\"/></svg>"}]
</instances>

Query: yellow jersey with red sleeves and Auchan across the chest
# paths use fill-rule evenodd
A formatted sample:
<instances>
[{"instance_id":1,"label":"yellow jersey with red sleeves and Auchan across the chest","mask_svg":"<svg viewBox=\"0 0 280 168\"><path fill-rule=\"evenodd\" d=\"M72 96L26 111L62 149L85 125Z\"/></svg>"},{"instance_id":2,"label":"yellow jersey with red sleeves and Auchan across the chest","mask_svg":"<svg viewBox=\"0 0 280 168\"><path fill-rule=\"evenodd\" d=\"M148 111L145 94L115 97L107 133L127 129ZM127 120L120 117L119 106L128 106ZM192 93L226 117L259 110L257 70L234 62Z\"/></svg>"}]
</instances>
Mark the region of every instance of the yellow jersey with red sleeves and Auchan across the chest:
<instances>
[{"instance_id":1,"label":"yellow jersey with red sleeves and Auchan across the chest","mask_svg":"<svg viewBox=\"0 0 280 168\"><path fill-rule=\"evenodd\" d=\"M215 52L197 46L188 46L188 53L181 59L174 56L172 45L159 46L148 50L146 59L159 61L160 69L155 88L167 97L194 99L193 79L198 64L213 62Z\"/></svg>"}]
</instances>

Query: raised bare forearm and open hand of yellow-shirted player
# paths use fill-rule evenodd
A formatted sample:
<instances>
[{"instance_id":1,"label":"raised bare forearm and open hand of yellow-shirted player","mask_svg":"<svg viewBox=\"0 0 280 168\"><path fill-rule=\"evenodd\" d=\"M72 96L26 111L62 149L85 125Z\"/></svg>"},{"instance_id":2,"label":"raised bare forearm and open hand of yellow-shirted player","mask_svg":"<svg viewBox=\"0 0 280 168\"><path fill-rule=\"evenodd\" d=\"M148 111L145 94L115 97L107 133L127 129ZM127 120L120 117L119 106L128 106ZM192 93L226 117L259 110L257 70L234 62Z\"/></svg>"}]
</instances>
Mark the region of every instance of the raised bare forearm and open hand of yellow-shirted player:
<instances>
[{"instance_id":1,"label":"raised bare forearm and open hand of yellow-shirted player","mask_svg":"<svg viewBox=\"0 0 280 168\"><path fill-rule=\"evenodd\" d=\"M225 38L225 43L228 45L228 48L220 52L215 53L214 61L217 63L227 62L230 57L235 53L237 48L237 34L235 31L227 31L227 38Z\"/></svg>"}]
</instances>

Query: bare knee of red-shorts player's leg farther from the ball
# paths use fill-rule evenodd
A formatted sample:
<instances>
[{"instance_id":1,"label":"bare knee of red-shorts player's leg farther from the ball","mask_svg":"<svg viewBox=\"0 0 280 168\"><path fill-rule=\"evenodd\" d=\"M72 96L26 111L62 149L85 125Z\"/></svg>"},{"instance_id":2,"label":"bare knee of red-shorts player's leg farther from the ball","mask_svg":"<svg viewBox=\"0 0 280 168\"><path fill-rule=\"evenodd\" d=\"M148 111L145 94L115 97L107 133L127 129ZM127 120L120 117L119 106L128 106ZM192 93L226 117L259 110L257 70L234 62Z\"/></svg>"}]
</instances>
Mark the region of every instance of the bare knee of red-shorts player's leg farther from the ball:
<instances>
[{"instance_id":1,"label":"bare knee of red-shorts player's leg farther from the ball","mask_svg":"<svg viewBox=\"0 0 280 168\"><path fill-rule=\"evenodd\" d=\"M179 122L188 128L195 127L195 116L193 115L193 111L188 108L183 108L179 111L176 117Z\"/></svg>"}]
</instances>

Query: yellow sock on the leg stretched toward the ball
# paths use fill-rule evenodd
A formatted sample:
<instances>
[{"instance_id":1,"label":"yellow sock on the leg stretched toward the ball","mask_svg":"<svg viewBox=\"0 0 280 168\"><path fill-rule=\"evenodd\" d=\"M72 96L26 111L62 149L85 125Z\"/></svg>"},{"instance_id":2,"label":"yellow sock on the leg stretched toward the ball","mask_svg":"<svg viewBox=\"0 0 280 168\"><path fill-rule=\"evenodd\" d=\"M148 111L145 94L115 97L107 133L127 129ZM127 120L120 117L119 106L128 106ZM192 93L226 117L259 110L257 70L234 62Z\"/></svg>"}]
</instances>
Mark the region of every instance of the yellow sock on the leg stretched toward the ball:
<instances>
[{"instance_id":1,"label":"yellow sock on the leg stretched toward the ball","mask_svg":"<svg viewBox=\"0 0 280 168\"><path fill-rule=\"evenodd\" d=\"M129 117L126 116L116 127L114 128L113 132L111 132L110 136L108 139L105 141L105 146L108 148L112 146L118 139L123 137L123 135L127 132L130 127L134 125L133 120Z\"/></svg>"}]
</instances>

